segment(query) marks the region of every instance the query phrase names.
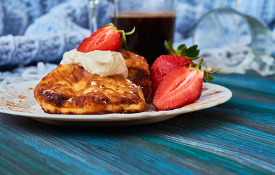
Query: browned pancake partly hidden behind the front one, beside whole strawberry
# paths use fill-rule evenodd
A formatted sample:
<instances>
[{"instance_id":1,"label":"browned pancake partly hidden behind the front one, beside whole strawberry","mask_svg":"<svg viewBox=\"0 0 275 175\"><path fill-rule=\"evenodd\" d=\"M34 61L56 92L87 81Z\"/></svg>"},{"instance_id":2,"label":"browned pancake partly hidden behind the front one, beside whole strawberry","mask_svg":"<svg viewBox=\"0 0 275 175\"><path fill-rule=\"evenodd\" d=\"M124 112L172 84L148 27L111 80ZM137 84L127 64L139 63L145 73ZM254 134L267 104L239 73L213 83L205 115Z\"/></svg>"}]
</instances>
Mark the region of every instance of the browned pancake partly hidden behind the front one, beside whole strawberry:
<instances>
[{"instance_id":1,"label":"browned pancake partly hidden behind the front one, beside whole strawberry","mask_svg":"<svg viewBox=\"0 0 275 175\"><path fill-rule=\"evenodd\" d=\"M152 93L149 66L143 56L131 51L120 51L128 67L128 79L140 86L145 100L149 100Z\"/></svg>"}]
</instances>

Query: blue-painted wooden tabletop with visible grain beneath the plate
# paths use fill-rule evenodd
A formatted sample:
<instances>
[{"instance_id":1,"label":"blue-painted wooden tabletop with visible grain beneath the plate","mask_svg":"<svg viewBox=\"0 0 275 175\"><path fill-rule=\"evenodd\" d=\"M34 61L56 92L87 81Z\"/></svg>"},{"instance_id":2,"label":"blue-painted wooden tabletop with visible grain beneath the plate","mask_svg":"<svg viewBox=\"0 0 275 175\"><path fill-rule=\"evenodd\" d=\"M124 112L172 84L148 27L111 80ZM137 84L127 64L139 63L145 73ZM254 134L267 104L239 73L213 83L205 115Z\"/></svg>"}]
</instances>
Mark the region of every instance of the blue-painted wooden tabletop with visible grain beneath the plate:
<instances>
[{"instance_id":1,"label":"blue-painted wooden tabletop with visible grain beneath the plate","mask_svg":"<svg viewBox=\"0 0 275 175\"><path fill-rule=\"evenodd\" d=\"M146 126L0 115L0 174L275 174L275 77L215 78L229 102Z\"/></svg>"}]
</instances>

